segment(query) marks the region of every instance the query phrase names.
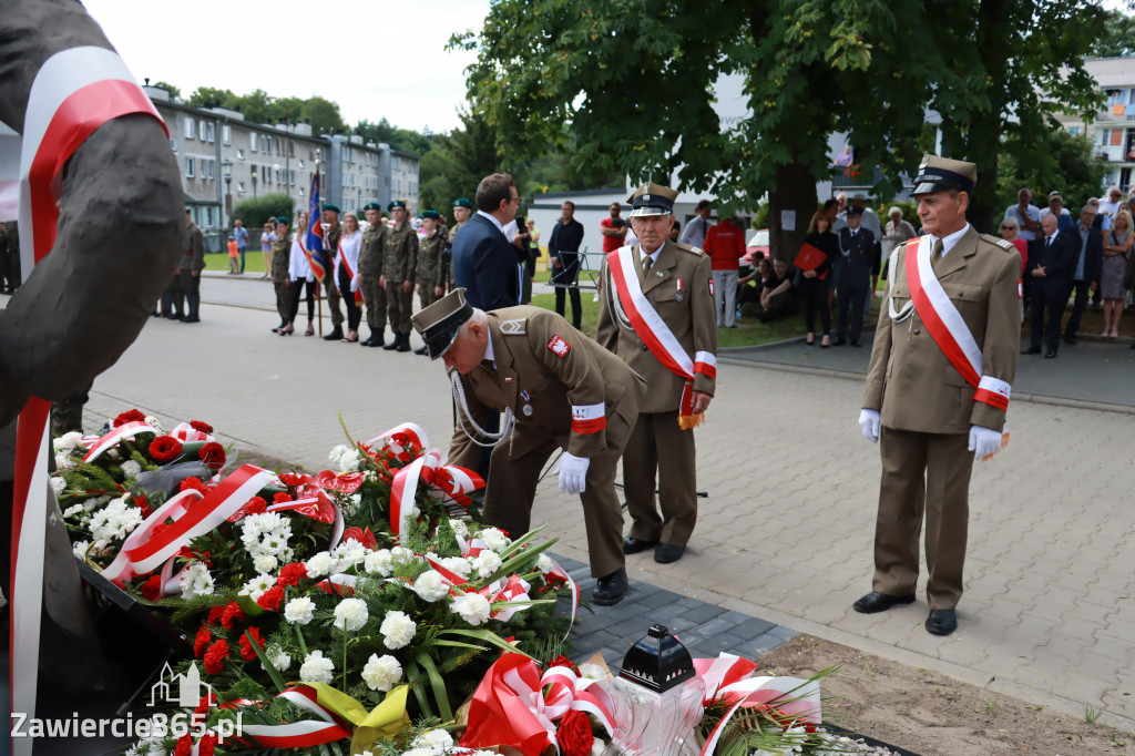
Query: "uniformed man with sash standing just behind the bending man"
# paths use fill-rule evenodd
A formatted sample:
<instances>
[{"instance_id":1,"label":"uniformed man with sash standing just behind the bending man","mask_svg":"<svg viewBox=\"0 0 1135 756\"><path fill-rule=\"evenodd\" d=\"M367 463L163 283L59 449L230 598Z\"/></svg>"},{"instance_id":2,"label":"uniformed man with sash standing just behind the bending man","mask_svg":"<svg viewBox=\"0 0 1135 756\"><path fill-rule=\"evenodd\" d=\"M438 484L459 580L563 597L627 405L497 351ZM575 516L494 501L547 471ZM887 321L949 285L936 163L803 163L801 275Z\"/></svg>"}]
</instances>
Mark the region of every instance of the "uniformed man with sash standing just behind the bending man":
<instances>
[{"instance_id":1,"label":"uniformed man with sash standing just behind the bending man","mask_svg":"<svg viewBox=\"0 0 1135 756\"><path fill-rule=\"evenodd\" d=\"M670 241L678 193L644 184L631 196L639 244L607 254L599 279L598 342L650 386L623 455L633 523L623 553L651 546L654 561L681 558L698 516L692 428L717 375L709 255ZM655 480L662 514L655 505Z\"/></svg>"}]
</instances>

